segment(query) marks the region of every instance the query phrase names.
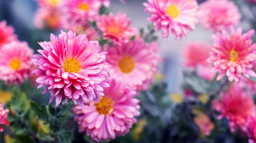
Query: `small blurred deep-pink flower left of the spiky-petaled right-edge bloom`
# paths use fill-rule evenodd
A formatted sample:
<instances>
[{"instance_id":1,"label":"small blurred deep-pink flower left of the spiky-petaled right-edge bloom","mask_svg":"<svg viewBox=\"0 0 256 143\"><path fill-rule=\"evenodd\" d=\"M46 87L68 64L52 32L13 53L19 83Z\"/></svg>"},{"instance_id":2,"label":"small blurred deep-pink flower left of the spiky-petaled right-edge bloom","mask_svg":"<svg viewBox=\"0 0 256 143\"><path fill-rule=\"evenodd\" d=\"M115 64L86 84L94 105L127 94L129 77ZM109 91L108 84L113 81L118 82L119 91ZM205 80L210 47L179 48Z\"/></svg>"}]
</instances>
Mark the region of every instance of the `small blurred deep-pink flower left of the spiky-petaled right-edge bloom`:
<instances>
[{"instance_id":1,"label":"small blurred deep-pink flower left of the spiky-petaled right-edge bloom","mask_svg":"<svg viewBox=\"0 0 256 143\"><path fill-rule=\"evenodd\" d=\"M206 62L209 58L211 48L206 43L194 42L185 45L182 54L186 59L184 65L195 67L196 65L208 65Z\"/></svg>"}]
</instances>

